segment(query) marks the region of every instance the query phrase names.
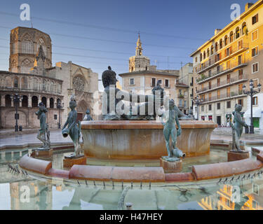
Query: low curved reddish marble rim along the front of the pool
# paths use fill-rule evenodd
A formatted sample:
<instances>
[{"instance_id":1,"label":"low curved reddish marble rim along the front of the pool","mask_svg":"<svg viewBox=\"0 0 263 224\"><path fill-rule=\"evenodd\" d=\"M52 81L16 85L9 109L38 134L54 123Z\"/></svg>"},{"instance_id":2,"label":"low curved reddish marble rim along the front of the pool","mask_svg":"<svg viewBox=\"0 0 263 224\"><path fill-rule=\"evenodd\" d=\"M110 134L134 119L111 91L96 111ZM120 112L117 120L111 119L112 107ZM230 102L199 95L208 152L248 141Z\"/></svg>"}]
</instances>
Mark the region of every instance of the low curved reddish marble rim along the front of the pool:
<instances>
[{"instance_id":1,"label":"low curved reddish marble rim along the front of the pool","mask_svg":"<svg viewBox=\"0 0 263 224\"><path fill-rule=\"evenodd\" d=\"M53 169L52 162L24 155L19 162L22 169L46 177L88 181L182 183L223 179L255 172L263 168L263 151L254 149L257 160L251 158L208 165L194 165L191 172L169 173L163 167L111 167L73 165L69 171Z\"/></svg>"}]
</instances>

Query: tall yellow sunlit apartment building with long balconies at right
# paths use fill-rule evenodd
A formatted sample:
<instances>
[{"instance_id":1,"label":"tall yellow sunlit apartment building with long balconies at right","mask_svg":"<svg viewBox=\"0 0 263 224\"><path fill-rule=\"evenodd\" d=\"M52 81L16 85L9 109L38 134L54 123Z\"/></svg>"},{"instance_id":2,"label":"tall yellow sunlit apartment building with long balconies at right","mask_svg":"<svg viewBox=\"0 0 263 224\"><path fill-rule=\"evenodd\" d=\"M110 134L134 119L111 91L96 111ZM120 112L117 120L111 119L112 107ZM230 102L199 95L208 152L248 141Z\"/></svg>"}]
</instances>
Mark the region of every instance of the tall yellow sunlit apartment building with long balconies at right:
<instances>
[{"instance_id":1,"label":"tall yellow sunlit apartment building with long balconies at right","mask_svg":"<svg viewBox=\"0 0 263 224\"><path fill-rule=\"evenodd\" d=\"M239 19L223 29L191 54L193 57L194 97L199 106L199 120L213 120L226 125L232 120L235 104L241 104L244 118L250 123L250 100L243 94L243 85L249 88L252 79L255 88L263 83L263 1L247 3ZM262 94L252 100L253 123L263 128ZM194 115L198 107L194 105ZM197 116L196 116L197 118Z\"/></svg>"}]
</instances>

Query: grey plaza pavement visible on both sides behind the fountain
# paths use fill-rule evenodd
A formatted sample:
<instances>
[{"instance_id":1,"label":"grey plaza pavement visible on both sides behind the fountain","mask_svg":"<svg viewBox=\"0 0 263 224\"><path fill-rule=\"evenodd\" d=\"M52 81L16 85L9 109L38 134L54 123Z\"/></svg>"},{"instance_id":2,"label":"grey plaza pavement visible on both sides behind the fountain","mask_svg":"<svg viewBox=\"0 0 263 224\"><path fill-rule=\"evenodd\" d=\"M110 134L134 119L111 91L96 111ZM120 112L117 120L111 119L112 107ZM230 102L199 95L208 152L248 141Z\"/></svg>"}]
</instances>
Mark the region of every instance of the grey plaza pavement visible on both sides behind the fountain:
<instances>
[{"instance_id":1,"label":"grey plaza pavement visible on both sides behind the fountain","mask_svg":"<svg viewBox=\"0 0 263 224\"><path fill-rule=\"evenodd\" d=\"M31 130L31 133L20 132L19 134L16 134L13 130L10 130L10 132L8 132L8 130L1 130L0 149L38 146L41 144L41 141L36 139L37 131L38 130ZM4 134L4 132L6 132L6 134ZM256 130L255 134L243 134L241 140L245 141L246 144L263 144L263 133ZM53 146L72 144L70 137L62 137L61 130L50 130L50 141ZM211 142L217 141L232 141L231 128L216 128L211 135Z\"/></svg>"}]
</instances>

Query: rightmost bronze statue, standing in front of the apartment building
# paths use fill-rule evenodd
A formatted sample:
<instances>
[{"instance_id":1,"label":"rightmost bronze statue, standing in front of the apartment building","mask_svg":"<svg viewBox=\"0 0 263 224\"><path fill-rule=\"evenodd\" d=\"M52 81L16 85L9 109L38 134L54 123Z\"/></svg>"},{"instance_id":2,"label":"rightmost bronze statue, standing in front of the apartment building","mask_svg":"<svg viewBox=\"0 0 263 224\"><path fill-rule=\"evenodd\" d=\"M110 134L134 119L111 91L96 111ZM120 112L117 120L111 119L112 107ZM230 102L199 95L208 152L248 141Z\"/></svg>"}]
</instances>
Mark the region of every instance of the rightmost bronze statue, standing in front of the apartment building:
<instances>
[{"instance_id":1,"label":"rightmost bronze statue, standing in front of the apartment building","mask_svg":"<svg viewBox=\"0 0 263 224\"><path fill-rule=\"evenodd\" d=\"M232 113L234 115L234 124L230 123L232 128L232 151L236 151L238 153L246 153L246 151L241 150L239 145L239 139L241 139L241 135L243 132L243 127L248 127L248 125L242 120L242 106L240 104L236 104L235 111Z\"/></svg>"}]
</instances>

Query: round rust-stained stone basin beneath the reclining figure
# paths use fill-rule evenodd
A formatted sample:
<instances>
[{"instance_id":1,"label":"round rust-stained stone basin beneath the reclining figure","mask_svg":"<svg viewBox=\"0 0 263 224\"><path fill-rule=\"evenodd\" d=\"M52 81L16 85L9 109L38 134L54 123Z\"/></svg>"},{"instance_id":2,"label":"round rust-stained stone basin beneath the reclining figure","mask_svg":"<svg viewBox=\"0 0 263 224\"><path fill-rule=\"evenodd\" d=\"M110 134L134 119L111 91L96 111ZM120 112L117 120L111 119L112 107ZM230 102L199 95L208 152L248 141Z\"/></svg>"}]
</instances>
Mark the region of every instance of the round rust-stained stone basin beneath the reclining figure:
<instances>
[{"instance_id":1,"label":"round rust-stained stone basin beneath the reclining figure","mask_svg":"<svg viewBox=\"0 0 263 224\"><path fill-rule=\"evenodd\" d=\"M207 155L213 121L180 120L177 147L187 157ZM81 122L83 150L100 160L158 160L167 155L163 125L151 120L92 120Z\"/></svg>"}]
</instances>

